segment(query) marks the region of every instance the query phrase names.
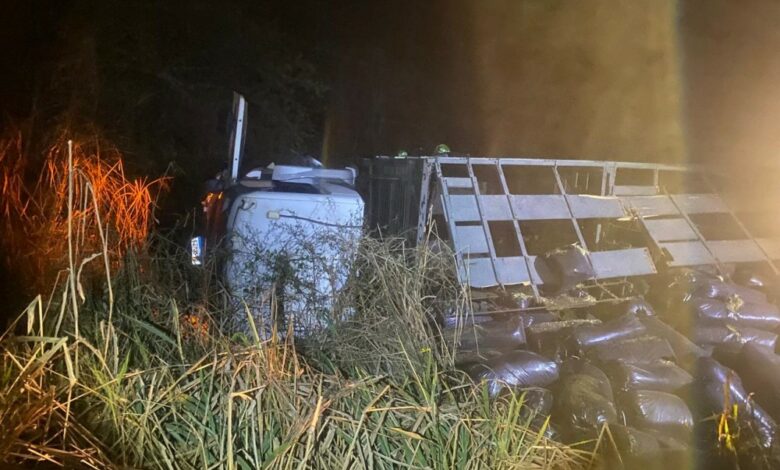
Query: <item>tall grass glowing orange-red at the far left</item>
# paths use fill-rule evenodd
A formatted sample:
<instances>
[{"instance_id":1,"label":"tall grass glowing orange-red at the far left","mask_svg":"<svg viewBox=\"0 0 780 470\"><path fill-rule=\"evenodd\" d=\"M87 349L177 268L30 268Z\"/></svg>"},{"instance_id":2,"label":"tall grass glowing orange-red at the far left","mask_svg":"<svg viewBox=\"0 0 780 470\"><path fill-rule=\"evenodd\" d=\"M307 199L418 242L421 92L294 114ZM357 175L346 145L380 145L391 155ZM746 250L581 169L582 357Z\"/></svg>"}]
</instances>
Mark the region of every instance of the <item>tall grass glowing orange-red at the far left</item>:
<instances>
[{"instance_id":1,"label":"tall grass glowing orange-red at the far left","mask_svg":"<svg viewBox=\"0 0 780 470\"><path fill-rule=\"evenodd\" d=\"M66 134L37 145L18 129L0 136L0 247L14 254L7 268L38 290L66 264L69 243L82 269L143 245L169 182L129 178L122 154L97 134L73 142L69 160Z\"/></svg>"}]
</instances>

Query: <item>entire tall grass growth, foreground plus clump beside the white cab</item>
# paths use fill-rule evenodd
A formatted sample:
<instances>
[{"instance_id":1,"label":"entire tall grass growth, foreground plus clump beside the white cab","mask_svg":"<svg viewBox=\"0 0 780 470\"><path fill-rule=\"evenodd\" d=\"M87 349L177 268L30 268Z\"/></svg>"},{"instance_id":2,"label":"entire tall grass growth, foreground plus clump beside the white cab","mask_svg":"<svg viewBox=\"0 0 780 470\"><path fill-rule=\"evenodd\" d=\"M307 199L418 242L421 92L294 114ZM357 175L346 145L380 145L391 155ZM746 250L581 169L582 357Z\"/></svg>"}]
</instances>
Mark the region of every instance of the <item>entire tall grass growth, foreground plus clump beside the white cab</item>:
<instances>
[{"instance_id":1,"label":"entire tall grass growth, foreground plus clump beside the white cab","mask_svg":"<svg viewBox=\"0 0 780 470\"><path fill-rule=\"evenodd\" d=\"M76 194L97 206L84 237L120 231L100 213L100 197ZM67 207L74 221L86 205ZM66 236L79 230L79 223L71 226ZM0 337L0 462L327 469L588 462L588 455L547 440L544 429L531 430L522 395L491 400L449 367L426 318L435 308L430 299L456 293L436 290L442 283L431 282L439 271L431 269L430 253L365 245L358 260L363 282L348 291L361 299L351 306L358 311L344 331L333 327L317 343L315 368L291 337L221 334L214 328L218 302L193 295L181 274L186 268L172 259L125 254L122 263L99 265L104 276L113 271L104 282L115 295L90 289L80 264L92 253L79 246L66 281L48 298L38 296ZM365 340L343 346L355 341L361 318ZM388 356L392 366L379 367L370 356Z\"/></svg>"}]
</instances>

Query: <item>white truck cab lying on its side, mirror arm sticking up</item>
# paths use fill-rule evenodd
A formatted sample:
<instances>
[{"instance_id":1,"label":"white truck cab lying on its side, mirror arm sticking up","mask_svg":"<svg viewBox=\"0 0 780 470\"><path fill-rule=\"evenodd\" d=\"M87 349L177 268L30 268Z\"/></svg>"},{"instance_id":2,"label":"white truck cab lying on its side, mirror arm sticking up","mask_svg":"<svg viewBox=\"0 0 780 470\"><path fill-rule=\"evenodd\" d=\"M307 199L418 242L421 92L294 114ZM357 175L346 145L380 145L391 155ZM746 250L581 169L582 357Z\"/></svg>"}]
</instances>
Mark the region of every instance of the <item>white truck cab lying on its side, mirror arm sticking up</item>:
<instances>
[{"instance_id":1,"label":"white truck cab lying on its side, mirror arm sticking up","mask_svg":"<svg viewBox=\"0 0 780 470\"><path fill-rule=\"evenodd\" d=\"M245 113L246 104L235 109ZM239 114L233 139L242 138L244 120ZM231 151L241 147L231 143ZM271 164L238 177L240 160L232 156L230 180L214 185L204 201L206 236L192 240L193 264L222 241L220 275L239 329L249 326L250 313L266 337L273 328L312 333L334 319L333 300L362 234L357 171L313 160L313 166Z\"/></svg>"}]
</instances>

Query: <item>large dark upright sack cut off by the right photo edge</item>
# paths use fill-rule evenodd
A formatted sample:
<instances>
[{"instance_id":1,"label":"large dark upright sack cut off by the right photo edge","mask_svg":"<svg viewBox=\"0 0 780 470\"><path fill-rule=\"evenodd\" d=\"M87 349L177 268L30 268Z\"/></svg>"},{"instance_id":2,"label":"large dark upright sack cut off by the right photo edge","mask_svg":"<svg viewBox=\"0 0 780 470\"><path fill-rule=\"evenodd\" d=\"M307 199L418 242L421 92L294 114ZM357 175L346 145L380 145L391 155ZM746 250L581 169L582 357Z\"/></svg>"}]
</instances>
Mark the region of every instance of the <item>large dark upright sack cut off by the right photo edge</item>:
<instances>
[{"instance_id":1,"label":"large dark upright sack cut off by the right photo edge","mask_svg":"<svg viewBox=\"0 0 780 470\"><path fill-rule=\"evenodd\" d=\"M740 351L737 370L756 402L780 420L780 356L753 342Z\"/></svg>"}]
</instances>

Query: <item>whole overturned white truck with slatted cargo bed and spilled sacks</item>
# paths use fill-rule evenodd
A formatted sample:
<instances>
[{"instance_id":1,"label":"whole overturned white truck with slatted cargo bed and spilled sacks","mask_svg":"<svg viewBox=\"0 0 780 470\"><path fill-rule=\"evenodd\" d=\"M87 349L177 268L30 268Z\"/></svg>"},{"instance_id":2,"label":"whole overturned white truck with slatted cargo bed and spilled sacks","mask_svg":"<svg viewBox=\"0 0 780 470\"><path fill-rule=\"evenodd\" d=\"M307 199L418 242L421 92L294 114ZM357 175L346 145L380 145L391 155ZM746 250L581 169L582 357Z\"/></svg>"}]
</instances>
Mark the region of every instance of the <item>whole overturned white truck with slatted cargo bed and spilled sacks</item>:
<instances>
[{"instance_id":1,"label":"whole overturned white truck with slatted cargo bed and spilled sacks","mask_svg":"<svg viewBox=\"0 0 780 470\"><path fill-rule=\"evenodd\" d=\"M442 341L487 394L524 394L532 426L567 442L606 442L609 429L604 456L627 468L724 455L780 467L780 233L762 226L765 209L716 191L717 175L441 154L239 176L241 106L231 172L204 204L206 245L228 241L240 308L266 318L271 286L281 317L310 334L327 326L315 310L329 310L365 228L443 241L473 302L435 319ZM204 239L192 248L202 263Z\"/></svg>"}]
</instances>

